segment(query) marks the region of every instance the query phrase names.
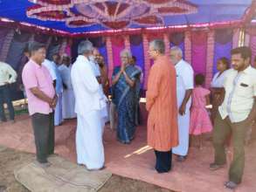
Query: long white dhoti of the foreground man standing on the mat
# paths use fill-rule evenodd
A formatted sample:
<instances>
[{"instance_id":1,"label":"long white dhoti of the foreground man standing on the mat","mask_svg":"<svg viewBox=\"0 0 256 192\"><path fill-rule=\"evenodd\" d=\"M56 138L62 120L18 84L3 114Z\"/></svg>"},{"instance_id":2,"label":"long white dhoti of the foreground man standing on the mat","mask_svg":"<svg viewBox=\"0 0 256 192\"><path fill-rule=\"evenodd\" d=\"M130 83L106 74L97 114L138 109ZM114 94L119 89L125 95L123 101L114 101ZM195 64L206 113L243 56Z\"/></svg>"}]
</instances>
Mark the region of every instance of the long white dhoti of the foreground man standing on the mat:
<instances>
[{"instance_id":1,"label":"long white dhoti of the foreground man standing on the mat","mask_svg":"<svg viewBox=\"0 0 256 192\"><path fill-rule=\"evenodd\" d=\"M103 167L105 159L100 111L78 114L76 150L79 164L86 165L88 169Z\"/></svg>"}]
</instances>

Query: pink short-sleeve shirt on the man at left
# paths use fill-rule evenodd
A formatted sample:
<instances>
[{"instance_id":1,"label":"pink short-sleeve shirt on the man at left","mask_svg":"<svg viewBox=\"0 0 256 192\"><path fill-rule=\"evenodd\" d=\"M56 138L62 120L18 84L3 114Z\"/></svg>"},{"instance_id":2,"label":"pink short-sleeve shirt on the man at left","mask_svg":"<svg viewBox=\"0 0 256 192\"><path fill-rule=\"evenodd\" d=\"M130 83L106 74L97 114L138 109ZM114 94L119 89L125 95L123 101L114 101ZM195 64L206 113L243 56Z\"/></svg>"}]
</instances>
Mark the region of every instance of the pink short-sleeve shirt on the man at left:
<instances>
[{"instance_id":1,"label":"pink short-sleeve shirt on the man at left","mask_svg":"<svg viewBox=\"0 0 256 192\"><path fill-rule=\"evenodd\" d=\"M45 66L38 65L33 60L29 60L29 62L24 65L22 80L28 98L30 115L34 113L52 113L52 108L47 102L42 99L38 99L38 97L31 93L31 88L38 87L38 89L45 93L48 97L54 97L55 91L53 87L52 77L50 72L45 68Z\"/></svg>"}]
</instances>

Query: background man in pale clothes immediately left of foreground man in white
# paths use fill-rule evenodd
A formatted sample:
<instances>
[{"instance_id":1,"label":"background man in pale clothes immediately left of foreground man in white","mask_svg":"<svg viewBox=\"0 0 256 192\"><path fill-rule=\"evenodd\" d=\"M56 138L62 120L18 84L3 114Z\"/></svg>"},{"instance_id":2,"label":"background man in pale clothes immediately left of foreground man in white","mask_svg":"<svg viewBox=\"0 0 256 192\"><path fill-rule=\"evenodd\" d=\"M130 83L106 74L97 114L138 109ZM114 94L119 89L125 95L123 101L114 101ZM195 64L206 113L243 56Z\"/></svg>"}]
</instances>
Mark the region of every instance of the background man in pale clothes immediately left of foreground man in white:
<instances>
[{"instance_id":1,"label":"background man in pale clothes immediately left of foreground man in white","mask_svg":"<svg viewBox=\"0 0 256 192\"><path fill-rule=\"evenodd\" d=\"M70 58L68 56L62 57L62 65L59 66L59 72L64 85L66 85L62 95L62 115L64 119L73 119L76 117L76 113L74 112L75 101L71 83Z\"/></svg>"}]
</instances>

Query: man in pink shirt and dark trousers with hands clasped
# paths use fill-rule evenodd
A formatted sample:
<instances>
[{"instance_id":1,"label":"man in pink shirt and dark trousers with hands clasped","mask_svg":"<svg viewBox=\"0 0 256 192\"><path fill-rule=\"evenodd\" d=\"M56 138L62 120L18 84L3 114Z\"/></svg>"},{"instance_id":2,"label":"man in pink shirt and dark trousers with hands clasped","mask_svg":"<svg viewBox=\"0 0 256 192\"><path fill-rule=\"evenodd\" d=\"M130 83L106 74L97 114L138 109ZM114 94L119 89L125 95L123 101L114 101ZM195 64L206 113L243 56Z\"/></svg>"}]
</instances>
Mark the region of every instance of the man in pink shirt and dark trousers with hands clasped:
<instances>
[{"instance_id":1,"label":"man in pink shirt and dark trousers with hands clasped","mask_svg":"<svg viewBox=\"0 0 256 192\"><path fill-rule=\"evenodd\" d=\"M24 66L22 79L28 98L37 149L37 160L42 167L50 166L47 156L54 153L53 109L57 96L50 72L42 63L45 60L45 45L31 43L31 58Z\"/></svg>"}]
</instances>

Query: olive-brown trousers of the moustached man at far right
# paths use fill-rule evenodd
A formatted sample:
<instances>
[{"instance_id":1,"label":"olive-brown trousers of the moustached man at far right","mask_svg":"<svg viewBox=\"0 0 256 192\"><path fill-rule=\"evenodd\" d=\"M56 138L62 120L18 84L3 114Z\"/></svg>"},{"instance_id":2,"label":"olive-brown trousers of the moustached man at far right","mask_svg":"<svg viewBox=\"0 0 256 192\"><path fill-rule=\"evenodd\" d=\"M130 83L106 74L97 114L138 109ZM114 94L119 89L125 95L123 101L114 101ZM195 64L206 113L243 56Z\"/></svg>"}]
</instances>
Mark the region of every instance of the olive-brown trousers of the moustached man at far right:
<instances>
[{"instance_id":1,"label":"olive-brown trousers of the moustached man at far right","mask_svg":"<svg viewBox=\"0 0 256 192\"><path fill-rule=\"evenodd\" d=\"M215 149L215 163L223 165L226 162L225 141L227 136L232 134L233 160L229 169L229 179L231 182L240 183L245 168L245 140L247 131L246 121L232 123L227 117L222 120L220 114L214 122L213 146Z\"/></svg>"}]
</instances>

